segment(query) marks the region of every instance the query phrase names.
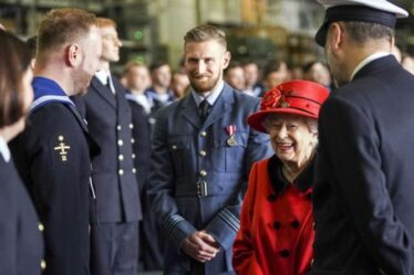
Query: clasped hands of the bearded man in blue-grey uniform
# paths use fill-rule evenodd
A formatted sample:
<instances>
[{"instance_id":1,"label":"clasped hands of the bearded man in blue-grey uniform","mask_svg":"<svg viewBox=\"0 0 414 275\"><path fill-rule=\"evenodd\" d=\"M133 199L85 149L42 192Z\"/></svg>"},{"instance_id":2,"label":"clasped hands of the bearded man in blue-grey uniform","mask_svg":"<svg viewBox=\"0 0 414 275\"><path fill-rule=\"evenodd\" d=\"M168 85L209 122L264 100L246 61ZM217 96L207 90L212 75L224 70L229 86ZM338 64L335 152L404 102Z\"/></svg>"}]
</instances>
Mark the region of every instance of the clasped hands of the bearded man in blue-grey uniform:
<instances>
[{"instance_id":1,"label":"clasped hands of the bearded man in blue-grey uniform","mask_svg":"<svg viewBox=\"0 0 414 275\"><path fill-rule=\"evenodd\" d=\"M219 244L206 231L198 231L184 241L183 251L190 257L206 263L219 252Z\"/></svg>"}]
</instances>

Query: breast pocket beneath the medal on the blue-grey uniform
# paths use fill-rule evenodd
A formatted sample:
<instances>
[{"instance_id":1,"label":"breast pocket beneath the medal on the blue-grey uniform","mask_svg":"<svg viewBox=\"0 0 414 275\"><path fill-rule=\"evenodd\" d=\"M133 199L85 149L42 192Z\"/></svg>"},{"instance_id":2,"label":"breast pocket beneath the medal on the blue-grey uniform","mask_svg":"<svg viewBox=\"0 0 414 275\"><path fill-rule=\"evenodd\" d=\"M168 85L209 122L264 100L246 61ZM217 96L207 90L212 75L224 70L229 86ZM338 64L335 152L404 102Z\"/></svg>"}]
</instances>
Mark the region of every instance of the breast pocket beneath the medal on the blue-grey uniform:
<instances>
[{"instance_id":1,"label":"breast pocket beneath the medal on the blue-grey uniform","mask_svg":"<svg viewBox=\"0 0 414 275\"><path fill-rule=\"evenodd\" d=\"M214 142L214 167L220 172L238 172L244 168L248 145L248 131L238 131L234 140L228 135L216 135Z\"/></svg>"}]
</instances>

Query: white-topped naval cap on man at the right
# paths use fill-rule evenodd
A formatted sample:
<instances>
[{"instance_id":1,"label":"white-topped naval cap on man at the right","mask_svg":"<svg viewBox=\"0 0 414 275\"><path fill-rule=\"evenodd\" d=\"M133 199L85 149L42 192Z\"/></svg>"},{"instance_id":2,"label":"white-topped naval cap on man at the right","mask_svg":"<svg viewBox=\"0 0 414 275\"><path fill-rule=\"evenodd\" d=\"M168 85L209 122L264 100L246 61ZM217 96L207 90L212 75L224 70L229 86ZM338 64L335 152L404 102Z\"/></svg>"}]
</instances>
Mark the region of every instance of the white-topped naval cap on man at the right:
<instances>
[{"instance_id":1,"label":"white-topped naval cap on man at the right","mask_svg":"<svg viewBox=\"0 0 414 275\"><path fill-rule=\"evenodd\" d=\"M328 28L333 22L370 22L394 29L397 18L408 17L407 11L386 0L318 0L318 2L327 9L323 24L315 35L315 41L321 46L324 46Z\"/></svg>"}]
</instances>

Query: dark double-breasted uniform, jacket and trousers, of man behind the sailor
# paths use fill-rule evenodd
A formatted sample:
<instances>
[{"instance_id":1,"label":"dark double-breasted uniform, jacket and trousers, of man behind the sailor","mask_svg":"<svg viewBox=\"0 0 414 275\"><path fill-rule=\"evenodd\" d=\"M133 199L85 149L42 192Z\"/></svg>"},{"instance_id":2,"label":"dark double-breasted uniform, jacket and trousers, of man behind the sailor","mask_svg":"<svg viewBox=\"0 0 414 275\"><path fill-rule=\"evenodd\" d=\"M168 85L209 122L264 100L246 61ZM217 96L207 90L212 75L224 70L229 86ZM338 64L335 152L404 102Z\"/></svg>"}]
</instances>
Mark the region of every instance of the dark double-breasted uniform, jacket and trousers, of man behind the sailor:
<instances>
[{"instance_id":1,"label":"dark double-breasted uniform, jacket and trousers, of man behind the sailor","mask_svg":"<svg viewBox=\"0 0 414 275\"><path fill-rule=\"evenodd\" d=\"M96 74L87 94L75 99L91 136L101 147L101 155L92 162L96 208L91 226L91 272L112 274L115 267L134 274L138 257L137 222L142 219L133 160L137 152L132 150L135 140L125 88L115 77L107 76Z\"/></svg>"}]
</instances>

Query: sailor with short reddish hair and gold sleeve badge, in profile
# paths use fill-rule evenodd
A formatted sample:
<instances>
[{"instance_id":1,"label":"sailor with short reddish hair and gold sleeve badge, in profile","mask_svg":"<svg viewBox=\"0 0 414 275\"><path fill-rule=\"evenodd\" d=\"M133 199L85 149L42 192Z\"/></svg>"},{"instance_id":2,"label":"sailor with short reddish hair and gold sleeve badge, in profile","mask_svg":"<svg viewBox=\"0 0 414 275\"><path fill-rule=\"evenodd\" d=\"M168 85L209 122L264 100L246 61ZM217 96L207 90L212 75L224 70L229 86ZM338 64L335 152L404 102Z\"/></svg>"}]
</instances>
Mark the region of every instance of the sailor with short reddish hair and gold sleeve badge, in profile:
<instances>
[{"instance_id":1,"label":"sailor with short reddish hair and gold sleeve badge, in profile","mask_svg":"<svg viewBox=\"0 0 414 275\"><path fill-rule=\"evenodd\" d=\"M85 93L101 55L95 15L46 14L38 33L34 102L12 144L44 228L46 275L89 275L91 160L87 129L70 95Z\"/></svg>"}]
</instances>

